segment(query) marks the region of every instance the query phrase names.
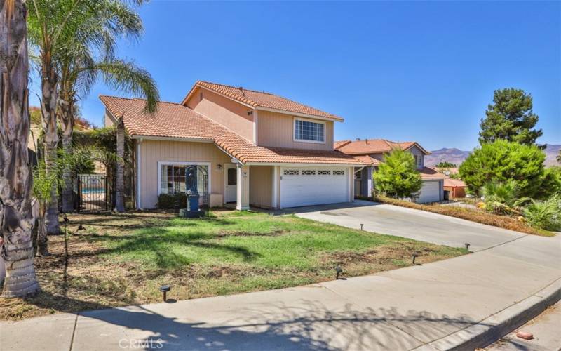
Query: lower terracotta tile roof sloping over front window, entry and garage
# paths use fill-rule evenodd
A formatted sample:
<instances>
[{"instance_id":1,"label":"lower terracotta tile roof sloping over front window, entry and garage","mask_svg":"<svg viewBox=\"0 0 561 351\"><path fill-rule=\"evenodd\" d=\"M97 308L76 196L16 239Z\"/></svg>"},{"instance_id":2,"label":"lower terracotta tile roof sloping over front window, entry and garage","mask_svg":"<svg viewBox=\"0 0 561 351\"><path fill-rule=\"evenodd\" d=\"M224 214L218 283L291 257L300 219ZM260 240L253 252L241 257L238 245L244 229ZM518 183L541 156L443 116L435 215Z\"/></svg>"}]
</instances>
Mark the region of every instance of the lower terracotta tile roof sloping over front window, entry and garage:
<instances>
[{"instance_id":1,"label":"lower terracotta tile roof sloping over front window, entry and garage","mask_svg":"<svg viewBox=\"0 0 561 351\"><path fill-rule=\"evenodd\" d=\"M142 99L102 95L100 100L114 117L123 117L125 129L131 136L212 140L244 164L362 164L359 160L338 151L256 146L208 117L173 102L158 102L158 110L150 115L144 114L145 100Z\"/></svg>"}]
</instances>

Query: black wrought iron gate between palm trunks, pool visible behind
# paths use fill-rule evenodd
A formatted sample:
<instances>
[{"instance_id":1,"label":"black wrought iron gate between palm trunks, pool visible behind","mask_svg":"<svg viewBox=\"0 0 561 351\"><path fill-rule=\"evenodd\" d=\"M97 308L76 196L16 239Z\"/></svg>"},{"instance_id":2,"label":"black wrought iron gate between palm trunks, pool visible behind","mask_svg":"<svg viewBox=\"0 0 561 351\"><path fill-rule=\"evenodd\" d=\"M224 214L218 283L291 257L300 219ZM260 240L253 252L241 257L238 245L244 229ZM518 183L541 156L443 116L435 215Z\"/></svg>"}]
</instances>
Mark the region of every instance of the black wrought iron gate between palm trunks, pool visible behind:
<instances>
[{"instance_id":1,"label":"black wrought iron gate between palm trunks, pool visible behind","mask_svg":"<svg viewBox=\"0 0 561 351\"><path fill-rule=\"evenodd\" d=\"M102 174L78 175L78 206L76 211L111 211L113 193L111 182Z\"/></svg>"}]
</instances>

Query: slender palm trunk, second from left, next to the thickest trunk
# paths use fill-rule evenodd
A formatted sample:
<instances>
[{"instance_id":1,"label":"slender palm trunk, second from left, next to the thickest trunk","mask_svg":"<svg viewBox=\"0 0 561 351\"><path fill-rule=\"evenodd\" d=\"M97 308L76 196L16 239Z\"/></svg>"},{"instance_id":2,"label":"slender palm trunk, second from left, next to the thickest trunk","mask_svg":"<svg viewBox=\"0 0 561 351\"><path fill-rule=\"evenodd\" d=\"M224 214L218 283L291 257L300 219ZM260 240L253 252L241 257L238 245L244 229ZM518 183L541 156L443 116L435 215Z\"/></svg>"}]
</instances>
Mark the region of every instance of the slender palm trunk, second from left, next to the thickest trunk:
<instances>
[{"instance_id":1,"label":"slender palm trunk, second from left, next to the thickest trunk","mask_svg":"<svg viewBox=\"0 0 561 351\"><path fill-rule=\"evenodd\" d=\"M41 119L43 124L44 146L45 146L45 166L47 174L56 171L57 164L57 74L50 55L42 53L41 65ZM60 226L58 224L58 192L57 185L53 184L50 190L50 204L47 208L46 225L48 234L59 234Z\"/></svg>"}]
</instances>

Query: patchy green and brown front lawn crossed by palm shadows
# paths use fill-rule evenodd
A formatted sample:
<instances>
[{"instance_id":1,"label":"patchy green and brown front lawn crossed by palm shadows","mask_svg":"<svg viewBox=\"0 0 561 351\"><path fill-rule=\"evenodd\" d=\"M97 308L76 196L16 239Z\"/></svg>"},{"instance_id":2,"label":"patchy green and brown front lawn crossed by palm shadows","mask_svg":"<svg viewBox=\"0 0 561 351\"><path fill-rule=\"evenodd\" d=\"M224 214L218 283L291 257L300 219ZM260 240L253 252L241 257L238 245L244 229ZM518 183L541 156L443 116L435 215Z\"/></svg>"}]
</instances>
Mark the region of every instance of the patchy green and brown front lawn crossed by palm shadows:
<instances>
[{"instance_id":1,"label":"patchy green and brown front lawn crossed by palm shadows","mask_svg":"<svg viewBox=\"0 0 561 351\"><path fill-rule=\"evenodd\" d=\"M278 289L372 274L459 256L463 249L351 230L295 216L217 211L187 220L168 213L69 216L52 256L36 259L43 291L0 298L1 319L155 303L170 284L177 300ZM86 228L76 231L79 224Z\"/></svg>"}]
</instances>

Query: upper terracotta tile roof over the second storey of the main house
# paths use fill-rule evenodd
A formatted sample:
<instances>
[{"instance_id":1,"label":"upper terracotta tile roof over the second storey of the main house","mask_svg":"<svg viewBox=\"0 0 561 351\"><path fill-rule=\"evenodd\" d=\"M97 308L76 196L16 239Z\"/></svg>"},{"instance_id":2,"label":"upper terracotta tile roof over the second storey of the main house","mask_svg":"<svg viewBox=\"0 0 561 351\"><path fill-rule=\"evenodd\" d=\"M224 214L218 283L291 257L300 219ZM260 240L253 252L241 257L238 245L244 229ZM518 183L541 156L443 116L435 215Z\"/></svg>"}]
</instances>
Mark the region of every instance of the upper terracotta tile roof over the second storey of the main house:
<instances>
[{"instance_id":1,"label":"upper terracotta tile roof over the second storey of the main house","mask_svg":"<svg viewBox=\"0 0 561 351\"><path fill-rule=\"evenodd\" d=\"M208 88L212 91L215 91L216 93L225 95L229 98L232 98L239 102L243 102L246 105L250 105L252 107L266 107L274 110L309 114L311 116L325 117L328 119L343 121L342 117L323 112L316 108L303 105L299 102L283 98L282 96L265 93L264 91L254 91L236 86L211 83L209 81L197 81L193 88L191 88L191 91L189 91L187 96L183 99L182 104L187 102L189 96L194 92L197 86L203 86L204 88Z\"/></svg>"}]
</instances>

